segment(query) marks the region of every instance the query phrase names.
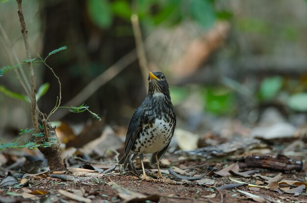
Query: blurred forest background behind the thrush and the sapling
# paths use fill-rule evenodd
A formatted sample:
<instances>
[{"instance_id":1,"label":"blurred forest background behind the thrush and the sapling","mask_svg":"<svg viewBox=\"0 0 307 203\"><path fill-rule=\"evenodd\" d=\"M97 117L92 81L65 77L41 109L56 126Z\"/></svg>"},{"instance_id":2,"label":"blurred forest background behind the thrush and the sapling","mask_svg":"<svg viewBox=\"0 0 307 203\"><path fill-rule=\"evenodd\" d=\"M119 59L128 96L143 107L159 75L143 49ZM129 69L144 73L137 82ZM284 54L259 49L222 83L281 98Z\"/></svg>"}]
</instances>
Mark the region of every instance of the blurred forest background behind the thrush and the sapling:
<instances>
[{"instance_id":1,"label":"blurred forest background behind the thrush and the sapling","mask_svg":"<svg viewBox=\"0 0 307 203\"><path fill-rule=\"evenodd\" d=\"M125 135L146 96L147 69L165 74L178 128L207 142L213 135L227 139L269 130L293 135L306 125L306 0L24 0L23 6L32 57L67 46L46 61L61 80L62 105L86 103L102 117L96 124L91 114L59 109L51 120L82 126L73 134L83 126L108 125ZM25 58L16 11L14 0L1 0L6 34L0 33L0 67L15 65L11 48L20 61ZM131 21L132 14L139 21ZM145 69L136 40L143 42ZM37 88L50 84L38 101L49 113L58 83L46 66L34 68ZM0 77L1 139L16 139L11 136L31 127L30 105L14 99L16 93L25 95L9 71Z\"/></svg>"}]
</instances>

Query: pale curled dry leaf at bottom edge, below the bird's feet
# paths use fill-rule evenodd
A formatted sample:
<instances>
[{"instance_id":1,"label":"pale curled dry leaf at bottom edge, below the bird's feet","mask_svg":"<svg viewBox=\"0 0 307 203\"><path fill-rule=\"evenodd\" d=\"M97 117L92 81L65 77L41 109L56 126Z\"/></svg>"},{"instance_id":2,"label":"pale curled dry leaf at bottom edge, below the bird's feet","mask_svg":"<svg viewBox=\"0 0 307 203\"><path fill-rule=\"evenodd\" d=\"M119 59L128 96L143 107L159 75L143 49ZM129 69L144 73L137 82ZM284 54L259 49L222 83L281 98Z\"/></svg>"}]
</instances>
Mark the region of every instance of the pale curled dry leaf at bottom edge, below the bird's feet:
<instances>
[{"instance_id":1,"label":"pale curled dry leaf at bottom edge, below the bird's feet","mask_svg":"<svg viewBox=\"0 0 307 203\"><path fill-rule=\"evenodd\" d=\"M159 195L145 196L140 193L132 192L118 184L113 184L112 188L119 192L118 196L124 201L124 203L145 202L146 200L158 202L160 200Z\"/></svg>"}]
</instances>

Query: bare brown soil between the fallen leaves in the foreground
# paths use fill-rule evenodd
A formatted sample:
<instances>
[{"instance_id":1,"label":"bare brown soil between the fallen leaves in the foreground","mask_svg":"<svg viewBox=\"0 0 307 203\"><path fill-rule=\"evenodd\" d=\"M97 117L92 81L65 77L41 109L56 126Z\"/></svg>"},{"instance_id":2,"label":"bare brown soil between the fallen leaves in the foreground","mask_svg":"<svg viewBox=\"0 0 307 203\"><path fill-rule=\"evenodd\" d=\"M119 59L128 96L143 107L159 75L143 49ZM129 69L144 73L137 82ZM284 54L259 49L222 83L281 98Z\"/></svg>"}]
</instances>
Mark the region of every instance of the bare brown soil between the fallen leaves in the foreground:
<instances>
[{"instance_id":1,"label":"bare brown soil between the fallen leaves in the foreground","mask_svg":"<svg viewBox=\"0 0 307 203\"><path fill-rule=\"evenodd\" d=\"M210 163L211 166L217 166L217 168L224 168L225 165L231 164L233 162L220 162ZM210 185L199 185L194 181L182 181L180 179L174 178L172 175L164 174L164 176L168 176L171 179L175 179L177 184L169 184L162 182L151 182L151 181L140 181L134 175L131 175L129 172L118 171L117 169L111 173L108 173L106 176L102 176L102 178L93 178L91 180L85 181L63 181L58 178L51 178L44 176L37 176L36 178L30 178L30 182L35 186L27 186L30 191L47 191L47 194L43 195L35 195L35 200L39 202L43 202L44 200L49 200L52 202L63 202L63 200L74 202L70 197L65 195L60 195L59 190L65 190L74 193L75 195L80 195L86 197L89 202L97 202L97 203L108 203L108 202L124 202L120 196L120 193L123 193L117 189L114 189L114 185L119 185L121 188L126 188L131 192L140 193L145 196L158 195L159 203L186 203L186 202L209 202L209 203L252 203L255 202L252 199L248 199L246 196L242 195L238 192L239 190L246 191L255 195L259 195L259 193L263 193L272 197L275 201L280 200L284 203L290 202L307 202L307 194L306 190L299 194L298 196L294 196L293 194L282 193L271 190L271 189L260 189L260 191L253 191L249 189L248 186L243 186L236 189L231 190L221 190L218 191L216 188L225 185L228 183L233 183L229 178L223 178L218 176L212 176L211 172L207 171L207 167L204 163L202 166L202 162L200 161L181 161L177 162L176 166L188 166L193 169L193 171L197 172L197 175L205 174L205 178L211 178L215 180L215 184L213 186ZM193 168L195 165L200 165L201 167ZM206 169L203 169L206 168ZM192 170L191 170L192 171ZM261 175L265 176L274 176L278 174L278 172L272 172L268 170L260 170ZM149 171L149 173L151 173ZM67 175L71 174L70 172L65 173ZM291 173L283 173L283 178L285 179L296 179L296 180L305 180L306 171L303 172L291 172ZM236 178L241 181L245 181L248 183L255 183L256 179L259 178ZM23 188L5 188L1 190L1 199L0 202L32 202L30 199L25 199L24 196L13 197L12 194L7 193L8 191L14 192L15 194L23 194L25 193L25 189ZM30 192L27 191L27 192ZM13 193L13 194L14 194ZM215 195L214 195L215 194ZM131 194L130 194L131 195ZM133 194L132 194L133 195ZM8 197L10 201L5 200L3 198ZM79 197L79 196L77 196ZM53 199L52 199L53 198ZM148 198L150 199L150 198ZM126 200L129 200L127 198ZM156 200L156 198L153 198ZM79 200L82 202L82 200ZM48 201L46 201L48 202ZM132 200L134 202L134 200ZM151 202L151 201L147 201Z\"/></svg>"}]
</instances>

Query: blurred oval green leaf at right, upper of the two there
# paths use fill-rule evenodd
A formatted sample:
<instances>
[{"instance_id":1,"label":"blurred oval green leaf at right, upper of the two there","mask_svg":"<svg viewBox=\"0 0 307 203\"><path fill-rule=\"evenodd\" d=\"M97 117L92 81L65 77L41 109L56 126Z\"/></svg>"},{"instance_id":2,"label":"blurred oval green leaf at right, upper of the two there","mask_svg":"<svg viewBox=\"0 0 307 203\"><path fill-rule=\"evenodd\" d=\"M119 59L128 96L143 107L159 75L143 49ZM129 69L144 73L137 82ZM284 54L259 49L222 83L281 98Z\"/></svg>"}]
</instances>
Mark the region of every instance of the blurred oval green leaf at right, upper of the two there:
<instances>
[{"instance_id":1,"label":"blurred oval green leaf at right, upper of the two there","mask_svg":"<svg viewBox=\"0 0 307 203\"><path fill-rule=\"evenodd\" d=\"M281 90L283 79L281 76L267 77L260 83L260 98L263 100L273 99Z\"/></svg>"}]
</instances>

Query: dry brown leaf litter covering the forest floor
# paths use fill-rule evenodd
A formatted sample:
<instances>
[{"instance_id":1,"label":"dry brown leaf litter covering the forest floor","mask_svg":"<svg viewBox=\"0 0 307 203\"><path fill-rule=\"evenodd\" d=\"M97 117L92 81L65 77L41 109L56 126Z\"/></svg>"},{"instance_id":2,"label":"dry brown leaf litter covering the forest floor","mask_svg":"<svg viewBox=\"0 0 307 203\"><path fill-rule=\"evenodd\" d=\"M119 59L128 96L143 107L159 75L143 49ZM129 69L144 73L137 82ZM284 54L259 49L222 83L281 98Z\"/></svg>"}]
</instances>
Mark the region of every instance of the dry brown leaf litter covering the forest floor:
<instances>
[{"instance_id":1,"label":"dry brown leaf litter covering the forest floor","mask_svg":"<svg viewBox=\"0 0 307 203\"><path fill-rule=\"evenodd\" d=\"M109 137L112 137L110 143L108 143ZM19 164L9 169L12 174L2 176L0 187L3 189L0 190L0 194L17 198L19 201L45 199L85 203L97 200L210 202L210 199L212 202L225 202L226 199L237 202L238 198L241 202L242 198L274 203L307 201L306 195L303 195L307 186L304 175L306 169L302 168L301 171L299 169L302 159L300 157L290 159L277 153L275 156L257 155L255 153L261 152L259 149L272 149L272 146L259 140L240 139L203 149L167 153L161 160L161 172L165 178L174 180L175 185L139 181L135 175L123 171L121 166L117 165L118 155L123 152L123 145L119 145L116 140L123 139L107 127L101 137L88 142L86 150L72 147L65 150L63 154L67 171L51 173L46 170L45 162L23 160L20 162L23 165ZM93 146L100 149L96 150ZM276 150L273 146L272 152L274 151ZM286 151L291 152L291 149L287 148ZM12 165L12 161L10 165L6 164L8 162L6 159L10 155L1 154L1 157L4 157L2 168ZM249 160L247 157L250 157L250 160L261 157L258 160L262 162L257 162L253 166L247 164L246 160ZM16 161L21 158L17 156ZM285 160L282 167L297 171L281 171L281 165L276 166L275 170L274 164L270 161L279 163L279 158ZM261 166L267 163L270 164L269 169ZM147 157L144 158L144 164L148 175L155 178L157 169L150 166ZM136 160L135 166L141 173L139 160Z\"/></svg>"}]
</instances>

